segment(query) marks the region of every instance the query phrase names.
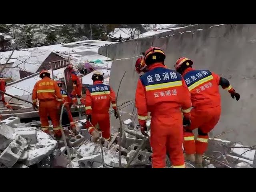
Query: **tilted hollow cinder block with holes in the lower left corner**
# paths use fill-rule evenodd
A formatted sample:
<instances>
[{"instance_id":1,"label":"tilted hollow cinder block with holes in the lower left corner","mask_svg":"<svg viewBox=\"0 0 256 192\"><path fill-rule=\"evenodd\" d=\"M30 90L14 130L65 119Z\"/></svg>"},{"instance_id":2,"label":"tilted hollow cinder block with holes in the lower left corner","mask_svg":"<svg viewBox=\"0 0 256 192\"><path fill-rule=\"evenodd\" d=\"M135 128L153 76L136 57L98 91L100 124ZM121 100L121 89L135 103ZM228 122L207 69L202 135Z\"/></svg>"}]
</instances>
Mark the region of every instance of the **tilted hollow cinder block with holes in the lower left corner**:
<instances>
[{"instance_id":1,"label":"tilted hollow cinder block with holes in the lower left corner","mask_svg":"<svg viewBox=\"0 0 256 192\"><path fill-rule=\"evenodd\" d=\"M14 140L1 153L0 162L7 167L12 167L18 161L24 148L27 146L27 141L20 135L15 135Z\"/></svg>"}]
</instances>

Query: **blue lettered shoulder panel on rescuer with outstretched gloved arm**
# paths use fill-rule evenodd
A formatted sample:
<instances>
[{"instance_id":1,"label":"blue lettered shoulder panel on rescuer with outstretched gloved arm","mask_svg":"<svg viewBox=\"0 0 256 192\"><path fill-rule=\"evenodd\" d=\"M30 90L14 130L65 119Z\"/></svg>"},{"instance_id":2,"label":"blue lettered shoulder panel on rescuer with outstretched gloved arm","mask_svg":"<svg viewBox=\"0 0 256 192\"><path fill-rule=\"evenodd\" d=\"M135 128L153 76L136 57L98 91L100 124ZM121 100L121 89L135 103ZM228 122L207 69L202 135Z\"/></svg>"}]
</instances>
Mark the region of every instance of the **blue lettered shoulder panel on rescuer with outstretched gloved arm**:
<instances>
[{"instance_id":1,"label":"blue lettered shoulder panel on rescuer with outstretched gloved arm","mask_svg":"<svg viewBox=\"0 0 256 192\"><path fill-rule=\"evenodd\" d=\"M185 74L184 80L187 86L191 86L194 83L211 76L212 73L209 70L192 70Z\"/></svg>"}]
</instances>

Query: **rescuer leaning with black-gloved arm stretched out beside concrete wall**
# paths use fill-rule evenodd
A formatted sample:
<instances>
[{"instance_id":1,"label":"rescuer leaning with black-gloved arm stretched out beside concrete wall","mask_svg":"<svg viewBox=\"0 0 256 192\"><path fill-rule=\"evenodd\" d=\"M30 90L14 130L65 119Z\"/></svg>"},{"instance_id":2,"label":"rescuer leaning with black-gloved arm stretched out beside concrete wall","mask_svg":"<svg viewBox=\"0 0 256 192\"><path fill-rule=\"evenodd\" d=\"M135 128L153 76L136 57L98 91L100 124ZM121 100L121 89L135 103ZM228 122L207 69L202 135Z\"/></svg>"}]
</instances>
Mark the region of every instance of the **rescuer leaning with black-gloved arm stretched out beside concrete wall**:
<instances>
[{"instance_id":1,"label":"rescuer leaning with black-gloved arm stretched out beside concrete wall","mask_svg":"<svg viewBox=\"0 0 256 192\"><path fill-rule=\"evenodd\" d=\"M184 127L186 159L196 162L199 167L202 167L202 156L208 147L208 133L220 119L221 101L218 86L222 86L237 101L240 99L240 95L236 93L227 79L209 70L195 70L192 68L192 64L192 60L181 57L174 67L177 72L182 74L194 107L191 110L191 124L188 119L184 119L184 125L188 125ZM198 128L196 142L192 133L195 128Z\"/></svg>"}]
</instances>

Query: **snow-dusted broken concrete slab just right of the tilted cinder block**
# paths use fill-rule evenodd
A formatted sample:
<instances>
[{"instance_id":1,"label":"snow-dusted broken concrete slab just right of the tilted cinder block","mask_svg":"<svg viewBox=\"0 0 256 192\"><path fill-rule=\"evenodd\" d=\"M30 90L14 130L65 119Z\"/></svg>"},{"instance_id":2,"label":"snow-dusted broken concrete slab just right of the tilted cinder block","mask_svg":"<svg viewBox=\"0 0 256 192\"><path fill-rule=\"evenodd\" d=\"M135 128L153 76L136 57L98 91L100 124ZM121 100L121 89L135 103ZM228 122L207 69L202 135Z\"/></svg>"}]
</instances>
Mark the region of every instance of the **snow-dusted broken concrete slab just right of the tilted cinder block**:
<instances>
[{"instance_id":1,"label":"snow-dusted broken concrete slab just right of the tilted cinder block","mask_svg":"<svg viewBox=\"0 0 256 192\"><path fill-rule=\"evenodd\" d=\"M30 147L27 149L28 158L24 162L27 166L39 163L43 158L48 157L54 149L57 147L57 141L53 140L48 134L42 132L41 130L36 130L37 134L37 144L41 144L43 148Z\"/></svg>"}]
</instances>

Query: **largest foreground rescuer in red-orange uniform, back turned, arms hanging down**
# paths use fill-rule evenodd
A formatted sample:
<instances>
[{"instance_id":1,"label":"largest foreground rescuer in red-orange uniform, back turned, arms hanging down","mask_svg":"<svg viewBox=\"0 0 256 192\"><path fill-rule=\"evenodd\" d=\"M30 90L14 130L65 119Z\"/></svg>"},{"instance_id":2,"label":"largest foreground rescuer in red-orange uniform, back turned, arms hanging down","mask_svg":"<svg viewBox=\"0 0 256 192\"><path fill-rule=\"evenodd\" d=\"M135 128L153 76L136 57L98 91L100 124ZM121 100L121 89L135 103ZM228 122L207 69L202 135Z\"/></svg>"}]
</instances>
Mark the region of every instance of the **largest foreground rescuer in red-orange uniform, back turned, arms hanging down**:
<instances>
[{"instance_id":1,"label":"largest foreground rescuer in red-orange uniform, back turned, arms hanging down","mask_svg":"<svg viewBox=\"0 0 256 192\"><path fill-rule=\"evenodd\" d=\"M140 129L144 135L147 131L147 114L148 111L151 112L150 144L153 168L166 166L166 150L173 168L184 168L182 113L189 119L192 104L184 79L176 71L166 68L165 57L158 47L150 47L145 52L148 72L138 80L135 104Z\"/></svg>"}]
</instances>

